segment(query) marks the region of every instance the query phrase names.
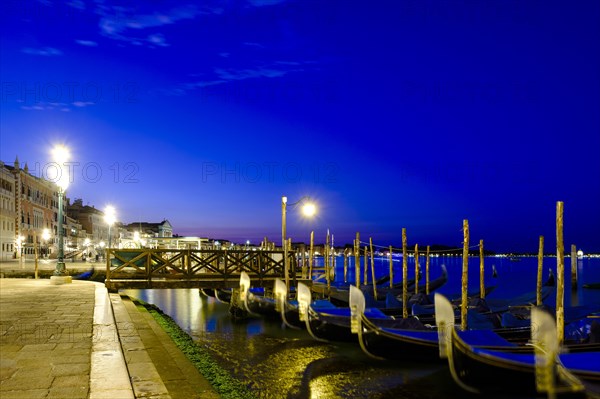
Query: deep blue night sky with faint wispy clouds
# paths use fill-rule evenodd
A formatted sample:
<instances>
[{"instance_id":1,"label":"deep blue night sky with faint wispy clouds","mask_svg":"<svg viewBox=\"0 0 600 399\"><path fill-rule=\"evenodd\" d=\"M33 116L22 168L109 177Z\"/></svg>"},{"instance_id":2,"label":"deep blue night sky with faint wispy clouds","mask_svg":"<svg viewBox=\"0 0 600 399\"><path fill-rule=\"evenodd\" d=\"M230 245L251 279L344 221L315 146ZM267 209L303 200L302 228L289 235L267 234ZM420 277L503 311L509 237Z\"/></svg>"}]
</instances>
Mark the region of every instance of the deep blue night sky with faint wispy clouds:
<instances>
[{"instance_id":1,"label":"deep blue night sky with faint wispy clouds","mask_svg":"<svg viewBox=\"0 0 600 399\"><path fill-rule=\"evenodd\" d=\"M180 235L600 252L600 2L6 0L1 153Z\"/></svg>"}]
</instances>

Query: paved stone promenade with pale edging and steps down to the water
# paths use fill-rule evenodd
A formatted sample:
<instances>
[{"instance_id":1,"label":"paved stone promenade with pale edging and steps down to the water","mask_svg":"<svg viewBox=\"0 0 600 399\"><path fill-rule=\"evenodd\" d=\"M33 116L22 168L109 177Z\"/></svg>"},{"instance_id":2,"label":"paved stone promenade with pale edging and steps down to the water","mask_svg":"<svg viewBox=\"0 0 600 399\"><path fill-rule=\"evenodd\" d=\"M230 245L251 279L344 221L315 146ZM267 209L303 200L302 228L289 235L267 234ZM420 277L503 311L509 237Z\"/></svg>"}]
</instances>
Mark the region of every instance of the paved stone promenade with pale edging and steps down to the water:
<instances>
[{"instance_id":1,"label":"paved stone promenade with pale edging and steps down to the water","mask_svg":"<svg viewBox=\"0 0 600 399\"><path fill-rule=\"evenodd\" d=\"M100 283L0 278L0 398L218 398L142 310Z\"/></svg>"}]
</instances>

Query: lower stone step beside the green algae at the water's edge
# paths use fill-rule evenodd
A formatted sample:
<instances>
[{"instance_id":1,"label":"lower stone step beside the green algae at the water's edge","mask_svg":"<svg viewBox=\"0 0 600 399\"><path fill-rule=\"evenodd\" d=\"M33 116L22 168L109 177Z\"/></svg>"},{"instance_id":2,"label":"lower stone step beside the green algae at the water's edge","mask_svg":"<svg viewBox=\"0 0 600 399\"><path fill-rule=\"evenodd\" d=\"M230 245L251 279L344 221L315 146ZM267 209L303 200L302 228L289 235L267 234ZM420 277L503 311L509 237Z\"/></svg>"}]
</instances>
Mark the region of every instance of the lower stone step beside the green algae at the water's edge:
<instances>
[{"instance_id":1,"label":"lower stone step beside the green algae at the water's edge","mask_svg":"<svg viewBox=\"0 0 600 399\"><path fill-rule=\"evenodd\" d=\"M122 303L169 397L173 399L220 397L145 307L125 296L122 297Z\"/></svg>"}]
</instances>

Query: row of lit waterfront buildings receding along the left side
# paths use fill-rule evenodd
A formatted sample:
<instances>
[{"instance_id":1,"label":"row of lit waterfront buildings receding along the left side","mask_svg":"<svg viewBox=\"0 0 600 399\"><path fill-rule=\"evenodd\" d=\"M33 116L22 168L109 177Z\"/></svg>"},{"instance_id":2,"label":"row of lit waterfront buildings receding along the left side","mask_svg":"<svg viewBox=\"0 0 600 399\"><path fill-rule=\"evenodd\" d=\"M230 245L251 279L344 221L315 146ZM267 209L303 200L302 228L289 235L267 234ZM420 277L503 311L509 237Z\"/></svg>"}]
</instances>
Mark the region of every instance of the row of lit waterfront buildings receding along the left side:
<instances>
[{"instance_id":1,"label":"row of lit waterfront buildings receding along the left side","mask_svg":"<svg viewBox=\"0 0 600 399\"><path fill-rule=\"evenodd\" d=\"M0 260L35 255L55 258L58 253L59 187L54 182L21 167L18 157L13 165L0 162ZM65 257L103 253L105 247L158 247L159 240L173 237L168 220L160 223L137 222L110 228L104 212L84 205L82 199L63 201ZM110 238L109 238L110 234ZM137 241L136 241L137 240ZM128 244L128 245L126 245Z\"/></svg>"}]
</instances>

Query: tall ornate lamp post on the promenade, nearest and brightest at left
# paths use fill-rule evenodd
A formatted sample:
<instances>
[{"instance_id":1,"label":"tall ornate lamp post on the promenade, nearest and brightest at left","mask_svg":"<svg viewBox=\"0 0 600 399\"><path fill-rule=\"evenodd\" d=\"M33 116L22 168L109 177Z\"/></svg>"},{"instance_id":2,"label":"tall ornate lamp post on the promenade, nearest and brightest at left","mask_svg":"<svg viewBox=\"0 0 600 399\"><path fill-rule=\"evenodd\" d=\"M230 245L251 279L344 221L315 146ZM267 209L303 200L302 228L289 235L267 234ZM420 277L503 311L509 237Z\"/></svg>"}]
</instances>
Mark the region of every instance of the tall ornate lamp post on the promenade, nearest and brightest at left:
<instances>
[{"instance_id":1,"label":"tall ornate lamp post on the promenade, nearest and brightest at left","mask_svg":"<svg viewBox=\"0 0 600 399\"><path fill-rule=\"evenodd\" d=\"M69 186L69 174L63 170L61 165L69 161L69 150L64 146L55 146L52 150L54 161L58 164L57 186L58 186L58 261L54 275L50 278L52 284L65 284L71 282L71 276L67 275L65 268L65 252L63 239L63 197Z\"/></svg>"}]
</instances>

